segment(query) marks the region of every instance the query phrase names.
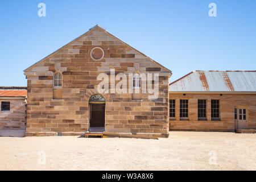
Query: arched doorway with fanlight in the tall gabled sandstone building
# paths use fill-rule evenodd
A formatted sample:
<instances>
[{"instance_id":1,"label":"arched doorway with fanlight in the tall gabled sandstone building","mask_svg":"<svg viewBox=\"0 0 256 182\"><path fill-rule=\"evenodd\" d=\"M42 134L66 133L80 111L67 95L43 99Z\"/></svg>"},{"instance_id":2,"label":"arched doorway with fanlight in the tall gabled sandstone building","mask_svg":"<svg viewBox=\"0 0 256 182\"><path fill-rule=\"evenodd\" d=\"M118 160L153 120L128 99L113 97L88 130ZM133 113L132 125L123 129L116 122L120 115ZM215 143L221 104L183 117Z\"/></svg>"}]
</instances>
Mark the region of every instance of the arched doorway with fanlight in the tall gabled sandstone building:
<instances>
[{"instance_id":1,"label":"arched doorway with fanlight in the tall gabled sandstone building","mask_svg":"<svg viewBox=\"0 0 256 182\"><path fill-rule=\"evenodd\" d=\"M90 132L105 131L105 103L105 98L101 94L90 97Z\"/></svg>"}]
</instances>

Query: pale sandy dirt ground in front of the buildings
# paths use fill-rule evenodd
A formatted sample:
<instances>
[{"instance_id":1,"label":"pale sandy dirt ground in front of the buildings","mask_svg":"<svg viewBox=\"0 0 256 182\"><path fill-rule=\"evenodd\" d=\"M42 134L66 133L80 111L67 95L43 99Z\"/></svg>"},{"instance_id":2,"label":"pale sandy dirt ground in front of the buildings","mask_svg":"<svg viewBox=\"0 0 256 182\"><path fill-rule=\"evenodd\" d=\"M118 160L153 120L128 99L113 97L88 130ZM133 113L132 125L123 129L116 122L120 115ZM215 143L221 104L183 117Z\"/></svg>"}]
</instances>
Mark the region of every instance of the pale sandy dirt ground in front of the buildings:
<instances>
[{"instance_id":1,"label":"pale sandy dirt ground in front of the buildings","mask_svg":"<svg viewBox=\"0 0 256 182\"><path fill-rule=\"evenodd\" d=\"M0 170L256 170L256 135L154 139L0 137Z\"/></svg>"}]
</instances>

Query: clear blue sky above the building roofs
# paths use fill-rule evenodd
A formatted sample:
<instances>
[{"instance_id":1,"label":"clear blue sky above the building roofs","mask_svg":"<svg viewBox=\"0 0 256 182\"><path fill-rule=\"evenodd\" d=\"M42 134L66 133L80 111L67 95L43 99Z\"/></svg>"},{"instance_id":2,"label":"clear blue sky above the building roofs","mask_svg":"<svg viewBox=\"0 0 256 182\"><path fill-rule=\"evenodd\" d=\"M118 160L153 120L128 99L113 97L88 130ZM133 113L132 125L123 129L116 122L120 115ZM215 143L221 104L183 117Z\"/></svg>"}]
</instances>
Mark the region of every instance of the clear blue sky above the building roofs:
<instances>
[{"instance_id":1,"label":"clear blue sky above the building roofs","mask_svg":"<svg viewBox=\"0 0 256 182\"><path fill-rule=\"evenodd\" d=\"M171 69L170 82L193 70L255 70L255 9L253 0L0 1L0 85L26 86L24 69L96 24Z\"/></svg>"}]
</instances>

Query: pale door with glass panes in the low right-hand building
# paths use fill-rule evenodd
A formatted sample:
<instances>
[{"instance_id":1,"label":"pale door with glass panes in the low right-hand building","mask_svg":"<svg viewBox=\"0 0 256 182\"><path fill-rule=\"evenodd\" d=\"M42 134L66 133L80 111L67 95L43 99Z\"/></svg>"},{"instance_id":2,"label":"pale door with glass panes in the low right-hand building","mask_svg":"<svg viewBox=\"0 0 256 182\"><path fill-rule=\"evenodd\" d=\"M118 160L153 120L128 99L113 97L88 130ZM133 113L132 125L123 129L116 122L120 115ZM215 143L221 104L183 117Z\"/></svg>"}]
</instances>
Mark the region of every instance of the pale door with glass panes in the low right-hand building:
<instances>
[{"instance_id":1,"label":"pale door with glass panes in the low right-hand building","mask_svg":"<svg viewBox=\"0 0 256 182\"><path fill-rule=\"evenodd\" d=\"M237 119L237 129L248 129L247 109L236 108L235 119Z\"/></svg>"}]
</instances>

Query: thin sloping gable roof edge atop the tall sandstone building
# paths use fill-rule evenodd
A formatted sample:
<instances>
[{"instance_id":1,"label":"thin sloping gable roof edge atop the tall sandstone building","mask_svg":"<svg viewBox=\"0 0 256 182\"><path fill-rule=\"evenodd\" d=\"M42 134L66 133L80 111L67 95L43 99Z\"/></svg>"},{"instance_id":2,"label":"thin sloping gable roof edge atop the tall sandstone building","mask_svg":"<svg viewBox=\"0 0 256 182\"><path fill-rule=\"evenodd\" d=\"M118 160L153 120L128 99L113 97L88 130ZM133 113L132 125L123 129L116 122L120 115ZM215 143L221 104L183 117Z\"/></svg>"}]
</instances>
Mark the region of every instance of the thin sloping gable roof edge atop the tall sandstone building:
<instances>
[{"instance_id":1,"label":"thin sloping gable roof edge atop the tall sandstone building","mask_svg":"<svg viewBox=\"0 0 256 182\"><path fill-rule=\"evenodd\" d=\"M113 36L115 39L119 40L120 42L122 42L122 43L123 43L123 44L125 44L126 46L129 46L131 49L134 49L135 51L137 51L137 52L141 53L141 54L142 54L143 56L145 56L148 60L152 61L153 63L155 63L155 64L159 65L160 67L162 67L162 68L166 69L168 72L170 72L170 73L171 73L171 70L170 70L170 69L168 69L168 68L164 67L163 65L159 64L159 63L158 63L158 62L156 62L155 60L152 60L150 57L148 57L148 56L144 55L142 52L140 52L140 51L138 51L137 49L135 49L135 48L131 47L129 44L127 44L127 43L123 42L121 39L118 39L116 36L114 36L114 35L110 34L108 31L106 31L106 29L105 29L105 28L103 28L103 27L99 26L98 24L96 24L96 26L94 26L94 27L90 28L90 29L89 29L89 31L85 32L85 34L82 34L81 36L79 36L78 38L76 38L76 39L72 40L71 42L69 42L69 43L68 43L68 44L66 44L65 46L63 46L63 47L61 47L61 48L57 49L57 51L55 51L55 52L51 53L50 55L48 55L48 56L44 57L42 60L40 60L40 61L36 62L36 63L35 63L35 64L33 64L33 65L31 65L30 67L28 67L27 69L25 69L23 72L27 72L27 71L28 71L28 69L31 69L31 68L35 67L37 64L39 64L39 63L41 63L42 61L44 61L44 60L48 59L49 57L51 57L51 56L52 56L52 55L54 55L55 53L59 52L61 49L63 49L63 48L65 48L65 47L69 46L69 44L72 44L73 42L76 42L77 40L79 40L79 39L80 39L80 38L82 38L83 36L86 36L87 34L89 34L90 32L92 32L93 30L95 30L96 28L99 28L100 30L102 30L102 31L106 32L106 34L109 34L110 36Z\"/></svg>"}]
</instances>

